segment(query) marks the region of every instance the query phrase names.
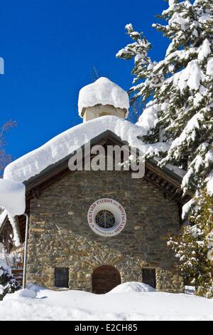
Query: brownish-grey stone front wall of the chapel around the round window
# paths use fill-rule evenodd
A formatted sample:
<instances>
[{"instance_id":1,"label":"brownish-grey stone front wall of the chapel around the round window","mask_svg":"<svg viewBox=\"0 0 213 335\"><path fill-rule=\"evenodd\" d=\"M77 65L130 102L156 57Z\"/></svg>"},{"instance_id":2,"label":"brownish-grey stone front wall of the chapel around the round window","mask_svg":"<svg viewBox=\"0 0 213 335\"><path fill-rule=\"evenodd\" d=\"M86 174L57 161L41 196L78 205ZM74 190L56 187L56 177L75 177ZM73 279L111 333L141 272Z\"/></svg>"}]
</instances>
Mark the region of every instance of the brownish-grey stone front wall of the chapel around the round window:
<instances>
[{"instance_id":1,"label":"brownish-grey stone front wall of the chapel around the round window","mask_svg":"<svg viewBox=\"0 0 213 335\"><path fill-rule=\"evenodd\" d=\"M126 210L124 230L115 237L94 234L87 211L109 197ZM92 272L102 264L116 267L122 282L141 281L142 267L156 269L157 289L182 292L177 259L165 236L177 234L178 205L130 172L67 172L31 200L27 281L54 287L55 267L69 267L70 289L91 292Z\"/></svg>"}]
</instances>

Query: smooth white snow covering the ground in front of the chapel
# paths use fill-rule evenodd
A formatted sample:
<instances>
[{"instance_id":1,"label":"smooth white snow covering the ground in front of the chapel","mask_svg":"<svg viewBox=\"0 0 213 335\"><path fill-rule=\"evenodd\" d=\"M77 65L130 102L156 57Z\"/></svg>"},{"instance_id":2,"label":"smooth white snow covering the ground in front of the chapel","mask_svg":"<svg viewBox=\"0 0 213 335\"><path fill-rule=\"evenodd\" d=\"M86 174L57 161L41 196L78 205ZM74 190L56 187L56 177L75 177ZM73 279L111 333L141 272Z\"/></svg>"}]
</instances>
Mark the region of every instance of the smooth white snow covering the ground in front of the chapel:
<instances>
[{"instance_id":1,"label":"smooth white snow covering the ground in front of the chapel","mask_svg":"<svg viewBox=\"0 0 213 335\"><path fill-rule=\"evenodd\" d=\"M136 291L129 290L136 288ZM213 300L187 294L143 292L141 283L120 285L120 293L55 292L31 285L0 301L0 320L211 320ZM144 287L147 289L147 285Z\"/></svg>"}]
</instances>

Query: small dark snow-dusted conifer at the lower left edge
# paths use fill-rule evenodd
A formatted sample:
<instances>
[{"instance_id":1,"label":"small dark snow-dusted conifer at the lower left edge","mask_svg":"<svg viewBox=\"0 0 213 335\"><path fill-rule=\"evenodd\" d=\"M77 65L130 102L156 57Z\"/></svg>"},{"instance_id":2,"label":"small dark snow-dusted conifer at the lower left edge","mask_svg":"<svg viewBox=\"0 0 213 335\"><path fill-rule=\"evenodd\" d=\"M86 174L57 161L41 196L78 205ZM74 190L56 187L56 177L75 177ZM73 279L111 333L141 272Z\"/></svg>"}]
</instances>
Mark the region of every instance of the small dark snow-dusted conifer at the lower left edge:
<instances>
[{"instance_id":1,"label":"small dark snow-dusted conifer at the lower left edge","mask_svg":"<svg viewBox=\"0 0 213 335\"><path fill-rule=\"evenodd\" d=\"M11 274L11 268L0 259L0 301L8 293L13 293L21 289L16 279Z\"/></svg>"}]
</instances>

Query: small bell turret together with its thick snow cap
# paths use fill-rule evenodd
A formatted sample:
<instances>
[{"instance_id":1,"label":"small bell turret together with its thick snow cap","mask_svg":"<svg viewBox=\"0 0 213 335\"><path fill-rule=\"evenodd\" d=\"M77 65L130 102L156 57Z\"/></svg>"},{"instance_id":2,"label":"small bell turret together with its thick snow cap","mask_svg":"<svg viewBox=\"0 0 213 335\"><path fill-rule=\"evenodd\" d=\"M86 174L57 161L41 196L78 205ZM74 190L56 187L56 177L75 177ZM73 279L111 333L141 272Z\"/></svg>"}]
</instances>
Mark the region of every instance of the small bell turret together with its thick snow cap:
<instances>
[{"instance_id":1,"label":"small bell turret together with its thick snow cap","mask_svg":"<svg viewBox=\"0 0 213 335\"><path fill-rule=\"evenodd\" d=\"M128 110L128 93L108 78L99 78L80 90L78 111L84 121L104 115L126 118Z\"/></svg>"}]
</instances>

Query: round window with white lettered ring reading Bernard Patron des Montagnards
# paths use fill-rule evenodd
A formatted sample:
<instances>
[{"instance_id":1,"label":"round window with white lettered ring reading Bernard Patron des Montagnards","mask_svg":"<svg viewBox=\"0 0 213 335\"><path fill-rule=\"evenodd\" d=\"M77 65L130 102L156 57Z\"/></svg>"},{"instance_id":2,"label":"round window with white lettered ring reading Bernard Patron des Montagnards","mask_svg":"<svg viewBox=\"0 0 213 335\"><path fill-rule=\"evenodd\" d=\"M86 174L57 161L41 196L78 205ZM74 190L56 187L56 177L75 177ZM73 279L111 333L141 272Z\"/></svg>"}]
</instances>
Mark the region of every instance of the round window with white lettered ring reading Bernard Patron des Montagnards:
<instances>
[{"instance_id":1,"label":"round window with white lettered ring reading Bernard Patron des Montagnards","mask_svg":"<svg viewBox=\"0 0 213 335\"><path fill-rule=\"evenodd\" d=\"M119 234L126 225L124 207L113 199L99 199L88 210L87 220L91 229L100 236Z\"/></svg>"}]
</instances>

